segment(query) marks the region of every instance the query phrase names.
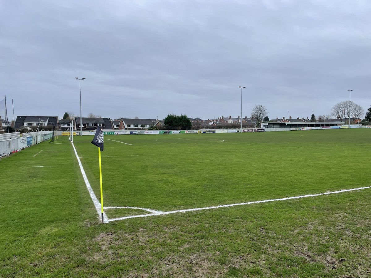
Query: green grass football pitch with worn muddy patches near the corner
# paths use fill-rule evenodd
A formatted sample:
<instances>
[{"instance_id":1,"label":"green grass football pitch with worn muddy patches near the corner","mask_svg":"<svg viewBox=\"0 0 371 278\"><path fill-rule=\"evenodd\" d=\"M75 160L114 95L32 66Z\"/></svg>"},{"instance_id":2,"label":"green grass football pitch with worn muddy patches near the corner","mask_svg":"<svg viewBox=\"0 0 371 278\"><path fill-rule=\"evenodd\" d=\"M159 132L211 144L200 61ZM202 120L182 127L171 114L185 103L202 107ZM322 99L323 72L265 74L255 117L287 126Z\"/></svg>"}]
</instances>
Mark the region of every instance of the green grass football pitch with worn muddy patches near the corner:
<instances>
[{"instance_id":1,"label":"green grass football pitch with worn muddy patches near the corner","mask_svg":"<svg viewBox=\"0 0 371 278\"><path fill-rule=\"evenodd\" d=\"M25 149L0 160L0 276L368 277L370 135L105 135L106 224L93 136Z\"/></svg>"}]
</instances>

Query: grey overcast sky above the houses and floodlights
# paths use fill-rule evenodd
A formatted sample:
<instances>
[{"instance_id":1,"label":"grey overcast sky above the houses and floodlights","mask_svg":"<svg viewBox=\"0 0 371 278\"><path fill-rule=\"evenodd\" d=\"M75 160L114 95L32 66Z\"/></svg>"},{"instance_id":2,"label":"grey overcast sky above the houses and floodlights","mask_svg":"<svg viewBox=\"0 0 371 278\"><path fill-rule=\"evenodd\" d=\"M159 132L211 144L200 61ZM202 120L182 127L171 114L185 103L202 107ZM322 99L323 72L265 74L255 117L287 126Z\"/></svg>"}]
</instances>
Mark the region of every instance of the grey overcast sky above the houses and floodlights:
<instances>
[{"instance_id":1,"label":"grey overcast sky above the houses and floodlights","mask_svg":"<svg viewBox=\"0 0 371 278\"><path fill-rule=\"evenodd\" d=\"M371 105L371 1L0 1L14 113L269 118ZM12 117L10 117L10 115Z\"/></svg>"}]
</instances>

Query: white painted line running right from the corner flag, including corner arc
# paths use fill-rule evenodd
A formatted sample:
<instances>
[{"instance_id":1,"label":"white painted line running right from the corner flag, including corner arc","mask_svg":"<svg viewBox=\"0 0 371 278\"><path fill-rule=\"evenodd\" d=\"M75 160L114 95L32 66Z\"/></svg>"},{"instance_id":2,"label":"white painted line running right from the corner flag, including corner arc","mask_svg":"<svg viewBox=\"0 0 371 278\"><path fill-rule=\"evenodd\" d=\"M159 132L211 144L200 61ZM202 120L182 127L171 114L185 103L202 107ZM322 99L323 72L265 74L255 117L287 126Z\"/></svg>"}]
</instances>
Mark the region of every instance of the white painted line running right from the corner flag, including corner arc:
<instances>
[{"instance_id":1,"label":"white painted line running right from the corner flag, including corner arc","mask_svg":"<svg viewBox=\"0 0 371 278\"><path fill-rule=\"evenodd\" d=\"M368 189L368 188L371 188L371 186L352 188L352 189L344 189L344 190L338 190L338 191L332 191L332 192L326 192L326 193L309 194L309 195L302 195L302 196L295 196L295 197L286 197L286 198L280 198L280 199L269 199L269 200L253 201L253 202L246 202L246 203L234 203L234 204L230 204L230 205L208 206L206 208L180 209L180 210L177 210L177 211L154 211L154 210L150 210L150 209L144 209L146 211L153 211L153 212L150 213L150 214L131 215L131 216L108 219L108 222L124 220L124 219L129 219L129 218L137 218L137 217L148 217L148 216L154 216L154 215L174 214L174 213L177 213L177 212L202 211L202 210L205 210L205 209L227 208L227 207L230 207L230 206L242 206L242 205L251 205L251 204L255 204L255 203L285 201L285 200L292 200L292 199L299 199L299 198L306 198L306 197L315 197L315 196L321 196L321 195L336 194L336 193L355 191L355 190L361 190L361 189ZM109 207L109 208L135 208L135 207ZM138 208L138 209L143 209L143 208Z\"/></svg>"}]
</instances>

